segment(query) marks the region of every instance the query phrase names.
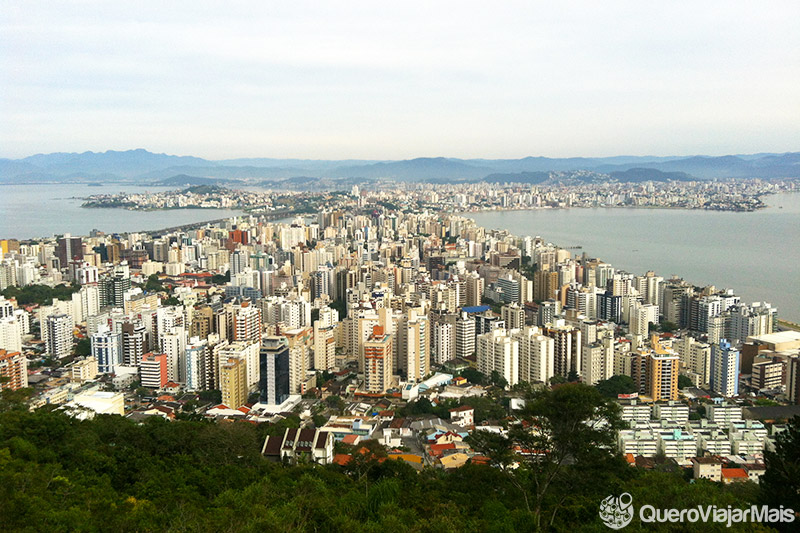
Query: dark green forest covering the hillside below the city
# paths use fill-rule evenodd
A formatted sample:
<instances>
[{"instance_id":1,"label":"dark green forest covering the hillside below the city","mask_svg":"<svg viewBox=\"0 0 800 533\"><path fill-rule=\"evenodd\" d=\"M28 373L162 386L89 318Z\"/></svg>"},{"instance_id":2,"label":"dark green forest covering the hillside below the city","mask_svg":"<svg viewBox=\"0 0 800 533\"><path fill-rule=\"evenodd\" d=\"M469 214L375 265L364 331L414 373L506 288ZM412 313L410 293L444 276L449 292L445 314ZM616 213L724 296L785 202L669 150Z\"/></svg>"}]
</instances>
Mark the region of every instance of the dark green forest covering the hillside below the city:
<instances>
[{"instance_id":1,"label":"dark green forest covering the hillside below the city","mask_svg":"<svg viewBox=\"0 0 800 533\"><path fill-rule=\"evenodd\" d=\"M569 398L551 395L548 401L561 402L559 418L570 418L570 404L563 403ZM0 524L4 531L608 531L598 508L611 494L629 492L634 502L657 508L791 507L798 498L800 419L780 453L768 457L761 486L639 470L598 447L585 456L572 449L558 471L524 461L512 470L499 466L503 450L494 456L492 442L476 445L495 466L453 471L418 473L385 460L377 446L355 453L344 467L287 466L260 455L269 431L268 424L159 417L142 424L108 415L77 420L48 408L31 412L6 398L0 405ZM560 438L558 428L553 435ZM539 489L543 475L546 491ZM676 527L771 531L749 523L676 526L638 518L626 530Z\"/></svg>"}]
</instances>

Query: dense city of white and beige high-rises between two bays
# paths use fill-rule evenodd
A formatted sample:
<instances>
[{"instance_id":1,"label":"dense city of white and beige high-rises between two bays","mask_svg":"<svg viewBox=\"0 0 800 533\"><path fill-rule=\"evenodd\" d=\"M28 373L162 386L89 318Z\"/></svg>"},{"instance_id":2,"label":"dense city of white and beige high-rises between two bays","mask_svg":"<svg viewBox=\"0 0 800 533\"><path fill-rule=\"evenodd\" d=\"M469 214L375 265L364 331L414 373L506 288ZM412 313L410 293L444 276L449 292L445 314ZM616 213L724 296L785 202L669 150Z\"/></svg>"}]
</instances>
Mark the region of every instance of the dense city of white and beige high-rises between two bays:
<instances>
[{"instance_id":1,"label":"dense city of white and beige high-rises between two bays","mask_svg":"<svg viewBox=\"0 0 800 533\"><path fill-rule=\"evenodd\" d=\"M796 185L381 183L284 196L196 186L102 197L163 209L214 195L207 207L249 214L0 240L3 389L78 419L281 428L259 449L278 462L346 466L369 443L361 449L419 471L491 464L482 433L509 438L531 391L580 383L620 406L613 445L632 466L757 481L800 404L796 324L734 289L626 272L487 230L469 211L600 199L632 208L637 198L727 209Z\"/></svg>"}]
</instances>

